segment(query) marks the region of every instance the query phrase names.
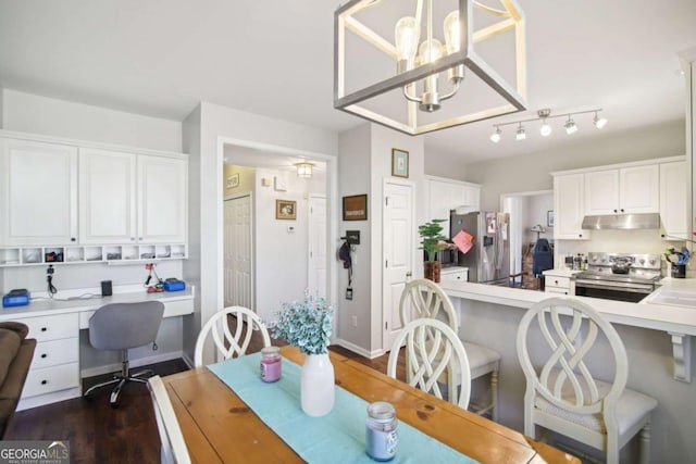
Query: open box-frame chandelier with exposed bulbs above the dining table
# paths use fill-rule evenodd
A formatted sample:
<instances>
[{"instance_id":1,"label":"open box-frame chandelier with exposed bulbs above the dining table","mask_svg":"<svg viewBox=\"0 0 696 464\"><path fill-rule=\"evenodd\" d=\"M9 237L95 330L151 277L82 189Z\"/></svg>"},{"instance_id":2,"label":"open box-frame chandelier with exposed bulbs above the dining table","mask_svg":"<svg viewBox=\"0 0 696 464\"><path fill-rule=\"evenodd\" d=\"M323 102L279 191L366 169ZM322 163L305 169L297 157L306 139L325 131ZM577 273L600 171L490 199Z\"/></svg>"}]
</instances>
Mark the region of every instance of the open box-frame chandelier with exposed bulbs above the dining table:
<instances>
[{"instance_id":1,"label":"open box-frame chandelier with exposed bulbs above the dining table","mask_svg":"<svg viewBox=\"0 0 696 464\"><path fill-rule=\"evenodd\" d=\"M334 108L408 135L525 110L524 13L515 0L487 3L500 5L351 0L340 7Z\"/></svg>"}]
</instances>

